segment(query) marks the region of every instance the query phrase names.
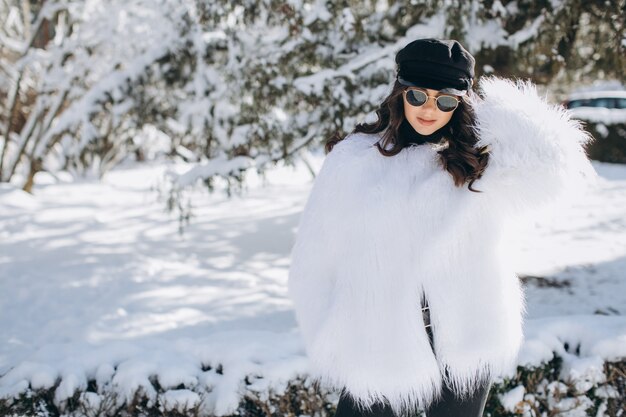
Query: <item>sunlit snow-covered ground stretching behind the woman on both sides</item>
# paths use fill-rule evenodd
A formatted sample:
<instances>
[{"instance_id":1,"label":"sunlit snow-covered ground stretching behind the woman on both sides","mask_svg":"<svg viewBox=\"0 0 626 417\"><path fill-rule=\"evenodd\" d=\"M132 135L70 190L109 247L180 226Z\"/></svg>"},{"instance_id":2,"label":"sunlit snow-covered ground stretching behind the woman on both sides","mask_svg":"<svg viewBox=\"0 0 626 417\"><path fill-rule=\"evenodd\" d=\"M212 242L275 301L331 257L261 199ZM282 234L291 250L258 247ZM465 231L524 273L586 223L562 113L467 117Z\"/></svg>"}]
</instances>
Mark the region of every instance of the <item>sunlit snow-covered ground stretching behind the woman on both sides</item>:
<instances>
[{"instance_id":1,"label":"sunlit snow-covered ground stretching behind the woman on both sides","mask_svg":"<svg viewBox=\"0 0 626 417\"><path fill-rule=\"evenodd\" d=\"M626 166L594 166L596 192L512 242L516 270L538 277L520 363L568 355L565 341L581 346L570 373L626 356ZM0 187L0 397L57 378L58 401L93 378L156 396L156 378L172 389L164 399L202 399L219 415L246 375L263 390L306 372L286 280L310 174L278 167L241 197L197 190L181 235L153 189L166 168L101 182L42 175L34 195Z\"/></svg>"}]
</instances>

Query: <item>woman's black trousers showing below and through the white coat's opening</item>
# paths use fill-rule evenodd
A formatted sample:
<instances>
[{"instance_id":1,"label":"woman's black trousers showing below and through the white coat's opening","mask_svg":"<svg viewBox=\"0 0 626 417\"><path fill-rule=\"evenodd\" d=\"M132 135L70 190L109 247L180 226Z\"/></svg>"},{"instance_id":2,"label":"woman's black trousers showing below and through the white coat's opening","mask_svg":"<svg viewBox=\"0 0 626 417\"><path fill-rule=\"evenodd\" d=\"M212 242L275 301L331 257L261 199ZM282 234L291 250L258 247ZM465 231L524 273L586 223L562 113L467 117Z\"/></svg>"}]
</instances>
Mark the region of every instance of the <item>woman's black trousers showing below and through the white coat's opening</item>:
<instances>
[{"instance_id":1,"label":"woman's black trousers showing below and through the white coat's opening","mask_svg":"<svg viewBox=\"0 0 626 417\"><path fill-rule=\"evenodd\" d=\"M426 331L430 339L430 346L433 348L433 333L430 326L430 314L428 304L422 300L422 309L424 313L424 323ZM484 381L480 384L474 394L469 398L460 399L454 392L448 388L446 384L442 386L442 396L439 401L430 404L425 411L426 417L482 417L491 388L491 381ZM414 417L414 416L396 416L387 403L374 404L371 411L362 411L356 407L356 404L349 395L346 395L345 388L341 391L339 403L337 404L337 412L335 417Z\"/></svg>"}]
</instances>

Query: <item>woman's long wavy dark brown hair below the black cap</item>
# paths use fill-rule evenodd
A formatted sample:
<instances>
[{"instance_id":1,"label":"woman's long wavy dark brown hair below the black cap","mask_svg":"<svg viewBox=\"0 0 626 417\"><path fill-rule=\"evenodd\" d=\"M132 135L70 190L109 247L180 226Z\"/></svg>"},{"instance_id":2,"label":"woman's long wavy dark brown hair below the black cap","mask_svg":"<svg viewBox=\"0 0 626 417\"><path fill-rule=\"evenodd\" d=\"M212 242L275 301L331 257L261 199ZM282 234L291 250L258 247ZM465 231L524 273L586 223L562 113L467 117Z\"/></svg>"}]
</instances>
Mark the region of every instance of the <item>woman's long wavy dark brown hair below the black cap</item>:
<instances>
[{"instance_id":1,"label":"woman's long wavy dark brown hair below the black cap","mask_svg":"<svg viewBox=\"0 0 626 417\"><path fill-rule=\"evenodd\" d=\"M378 151L384 156L394 156L398 154L408 144L403 143L398 136L398 129L404 119L404 102L402 93L407 87L397 80L393 85L391 93L383 100L376 116L378 120L373 123L359 123L352 133L379 133L383 132L380 142L376 143ZM440 155L439 161L443 169L447 170L454 179L457 187L468 184L468 189L473 192L482 192L472 188L474 181L478 180L489 161L489 154L486 147L475 148L478 141L476 131L472 128L474 124L474 111L468 100L473 92L470 90L466 96L461 98L459 106L454 111L450 121L441 129L444 130L443 137L447 140L448 146L437 151ZM324 149L330 152L336 143L343 140L339 133L330 137ZM392 147L387 150L388 145Z\"/></svg>"}]
</instances>

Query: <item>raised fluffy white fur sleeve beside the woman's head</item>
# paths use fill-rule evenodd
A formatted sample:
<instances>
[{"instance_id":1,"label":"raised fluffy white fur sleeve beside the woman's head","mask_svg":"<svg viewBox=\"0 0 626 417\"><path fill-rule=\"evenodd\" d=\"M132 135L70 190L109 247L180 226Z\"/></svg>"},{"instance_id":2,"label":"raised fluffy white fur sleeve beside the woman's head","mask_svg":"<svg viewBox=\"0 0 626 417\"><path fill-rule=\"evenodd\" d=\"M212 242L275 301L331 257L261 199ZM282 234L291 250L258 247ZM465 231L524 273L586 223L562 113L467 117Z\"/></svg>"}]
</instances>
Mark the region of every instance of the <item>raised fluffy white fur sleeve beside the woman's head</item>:
<instances>
[{"instance_id":1,"label":"raised fluffy white fur sleeve beside the woman's head","mask_svg":"<svg viewBox=\"0 0 626 417\"><path fill-rule=\"evenodd\" d=\"M530 82L484 77L479 92L476 146L489 145L490 157L476 188L519 212L594 184L583 149L592 137L568 110L549 104Z\"/></svg>"}]
</instances>

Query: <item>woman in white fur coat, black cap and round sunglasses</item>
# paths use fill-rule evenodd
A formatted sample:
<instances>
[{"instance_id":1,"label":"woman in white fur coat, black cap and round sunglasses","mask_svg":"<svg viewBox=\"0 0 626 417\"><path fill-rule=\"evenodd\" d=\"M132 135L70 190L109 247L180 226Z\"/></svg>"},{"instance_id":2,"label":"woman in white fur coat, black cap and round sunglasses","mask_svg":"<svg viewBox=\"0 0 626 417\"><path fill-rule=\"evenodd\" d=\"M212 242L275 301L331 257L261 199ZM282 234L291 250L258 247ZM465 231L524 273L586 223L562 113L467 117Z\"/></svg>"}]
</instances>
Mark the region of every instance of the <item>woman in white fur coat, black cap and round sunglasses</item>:
<instances>
[{"instance_id":1,"label":"woman in white fur coat, black cap and round sunglasses","mask_svg":"<svg viewBox=\"0 0 626 417\"><path fill-rule=\"evenodd\" d=\"M289 295L336 417L481 416L523 338L504 222L593 179L590 137L528 82L474 94L456 41L418 39L396 63L378 120L327 143Z\"/></svg>"}]
</instances>

